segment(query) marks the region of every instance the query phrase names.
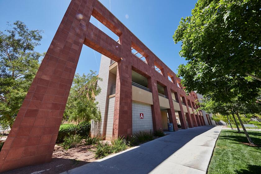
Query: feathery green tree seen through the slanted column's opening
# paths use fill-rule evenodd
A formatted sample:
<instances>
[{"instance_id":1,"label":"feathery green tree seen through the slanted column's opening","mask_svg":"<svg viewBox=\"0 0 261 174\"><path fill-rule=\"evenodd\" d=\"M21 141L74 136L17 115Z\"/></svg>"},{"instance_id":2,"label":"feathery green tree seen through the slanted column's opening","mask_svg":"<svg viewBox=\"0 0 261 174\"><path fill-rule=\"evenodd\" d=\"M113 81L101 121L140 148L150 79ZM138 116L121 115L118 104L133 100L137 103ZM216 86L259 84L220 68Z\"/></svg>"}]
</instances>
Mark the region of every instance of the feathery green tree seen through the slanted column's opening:
<instances>
[{"instance_id":1,"label":"feathery green tree seen through the slanted column's opening","mask_svg":"<svg viewBox=\"0 0 261 174\"><path fill-rule=\"evenodd\" d=\"M81 121L101 119L95 96L101 91L97 81L102 79L95 73L90 70L87 75L80 76L78 73L75 75L64 111L65 120L76 121L79 124Z\"/></svg>"}]
</instances>

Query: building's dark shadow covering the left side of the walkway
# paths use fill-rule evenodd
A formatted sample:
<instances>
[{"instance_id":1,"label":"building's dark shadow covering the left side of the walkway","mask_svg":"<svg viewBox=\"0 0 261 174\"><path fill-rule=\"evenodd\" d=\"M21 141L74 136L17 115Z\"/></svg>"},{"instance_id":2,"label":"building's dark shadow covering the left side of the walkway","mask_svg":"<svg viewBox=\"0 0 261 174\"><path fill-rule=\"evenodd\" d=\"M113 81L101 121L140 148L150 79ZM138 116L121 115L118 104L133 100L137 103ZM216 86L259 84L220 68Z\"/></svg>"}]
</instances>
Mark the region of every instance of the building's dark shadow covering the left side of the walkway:
<instances>
[{"instance_id":1,"label":"building's dark shadow covering the left side of the walkway","mask_svg":"<svg viewBox=\"0 0 261 174\"><path fill-rule=\"evenodd\" d=\"M197 128L196 131L184 130L170 132L170 134L175 133L181 135L167 135L149 141L111 158L101 159L75 168L73 171L69 171L69 173L83 173L83 171L88 171L89 173L147 174L163 163L177 150L181 149L190 140L212 128L214 128L214 126L201 126ZM152 158L153 160L151 160Z\"/></svg>"}]
</instances>

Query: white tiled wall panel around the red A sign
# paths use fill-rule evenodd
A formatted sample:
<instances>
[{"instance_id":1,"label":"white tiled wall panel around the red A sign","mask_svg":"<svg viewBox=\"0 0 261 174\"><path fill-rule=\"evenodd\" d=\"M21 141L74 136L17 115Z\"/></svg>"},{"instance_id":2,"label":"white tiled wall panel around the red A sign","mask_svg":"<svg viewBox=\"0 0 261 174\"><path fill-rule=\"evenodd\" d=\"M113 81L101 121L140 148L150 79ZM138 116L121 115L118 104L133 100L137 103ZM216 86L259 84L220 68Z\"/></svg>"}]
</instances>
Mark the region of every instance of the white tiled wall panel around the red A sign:
<instances>
[{"instance_id":1,"label":"white tiled wall panel around the red A sign","mask_svg":"<svg viewBox=\"0 0 261 174\"><path fill-rule=\"evenodd\" d=\"M144 114L143 119L140 119L140 113ZM132 102L132 134L150 130L153 132L151 105Z\"/></svg>"}]
</instances>

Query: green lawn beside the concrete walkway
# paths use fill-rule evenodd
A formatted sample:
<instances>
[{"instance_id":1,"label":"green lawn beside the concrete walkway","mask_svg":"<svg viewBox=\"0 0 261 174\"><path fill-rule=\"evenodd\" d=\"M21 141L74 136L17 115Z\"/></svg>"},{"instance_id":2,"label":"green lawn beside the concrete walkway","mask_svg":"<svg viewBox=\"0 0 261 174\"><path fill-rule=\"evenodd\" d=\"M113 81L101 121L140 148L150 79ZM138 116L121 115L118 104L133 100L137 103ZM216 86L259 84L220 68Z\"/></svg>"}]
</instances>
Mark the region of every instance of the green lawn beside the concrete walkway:
<instances>
[{"instance_id":1,"label":"green lawn beside the concrete walkway","mask_svg":"<svg viewBox=\"0 0 261 174\"><path fill-rule=\"evenodd\" d=\"M261 131L248 131L259 147L248 143L244 133L222 130L208 166L208 174L261 174Z\"/></svg>"}]
</instances>

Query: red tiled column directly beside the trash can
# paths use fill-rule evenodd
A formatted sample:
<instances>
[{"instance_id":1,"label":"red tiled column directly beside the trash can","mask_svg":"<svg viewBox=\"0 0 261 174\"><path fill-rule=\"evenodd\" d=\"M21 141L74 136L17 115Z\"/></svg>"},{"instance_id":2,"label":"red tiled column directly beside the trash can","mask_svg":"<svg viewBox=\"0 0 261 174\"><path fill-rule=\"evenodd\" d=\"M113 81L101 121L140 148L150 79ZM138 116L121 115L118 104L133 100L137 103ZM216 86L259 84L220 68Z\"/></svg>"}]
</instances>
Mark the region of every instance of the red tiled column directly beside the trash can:
<instances>
[{"instance_id":1,"label":"red tiled column directly beside the trash can","mask_svg":"<svg viewBox=\"0 0 261 174\"><path fill-rule=\"evenodd\" d=\"M164 93L169 99L170 109L167 109L169 122L173 123L174 131L178 131L179 128L178 128L178 125L177 125L175 109L174 109L174 105L173 105L173 101L172 101L171 90L168 86L164 87Z\"/></svg>"}]
</instances>

